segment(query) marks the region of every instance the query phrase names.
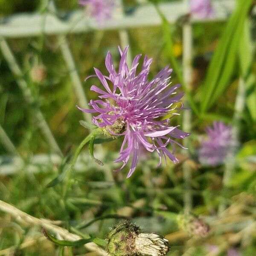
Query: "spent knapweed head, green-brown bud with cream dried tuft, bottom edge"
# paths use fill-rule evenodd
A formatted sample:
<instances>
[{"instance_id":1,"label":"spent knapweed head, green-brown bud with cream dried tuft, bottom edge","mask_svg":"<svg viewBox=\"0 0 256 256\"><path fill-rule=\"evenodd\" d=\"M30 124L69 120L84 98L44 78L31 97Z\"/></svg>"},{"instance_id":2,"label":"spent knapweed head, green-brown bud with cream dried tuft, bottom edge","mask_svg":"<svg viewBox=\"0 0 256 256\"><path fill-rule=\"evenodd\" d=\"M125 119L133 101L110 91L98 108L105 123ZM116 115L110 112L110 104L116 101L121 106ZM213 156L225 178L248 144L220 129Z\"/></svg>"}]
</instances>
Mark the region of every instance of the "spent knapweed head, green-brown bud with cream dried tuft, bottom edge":
<instances>
[{"instance_id":1,"label":"spent knapweed head, green-brown bud with cream dried tuft, bottom edge","mask_svg":"<svg viewBox=\"0 0 256 256\"><path fill-rule=\"evenodd\" d=\"M165 256L169 251L168 240L155 233L143 233L129 221L121 221L107 236L110 256L151 255Z\"/></svg>"}]
</instances>

